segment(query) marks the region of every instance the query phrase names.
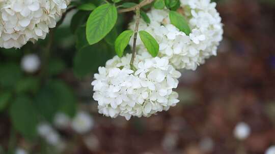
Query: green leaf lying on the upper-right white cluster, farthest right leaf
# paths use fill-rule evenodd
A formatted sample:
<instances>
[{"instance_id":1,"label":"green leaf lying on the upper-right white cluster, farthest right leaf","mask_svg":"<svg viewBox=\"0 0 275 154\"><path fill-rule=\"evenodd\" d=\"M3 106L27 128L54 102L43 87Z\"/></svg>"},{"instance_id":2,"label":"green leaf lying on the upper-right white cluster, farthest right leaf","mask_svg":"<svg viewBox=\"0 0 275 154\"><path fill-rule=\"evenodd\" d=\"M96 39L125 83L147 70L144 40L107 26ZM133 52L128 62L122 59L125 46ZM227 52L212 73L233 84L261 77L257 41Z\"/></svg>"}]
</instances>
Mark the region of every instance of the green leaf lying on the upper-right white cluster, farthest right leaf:
<instances>
[{"instance_id":1,"label":"green leaf lying on the upper-right white cluster, farthest right leaf","mask_svg":"<svg viewBox=\"0 0 275 154\"><path fill-rule=\"evenodd\" d=\"M176 11L170 11L169 17L171 23L179 28L180 31L183 31L186 35L190 34L190 27L181 14L177 13Z\"/></svg>"}]
</instances>

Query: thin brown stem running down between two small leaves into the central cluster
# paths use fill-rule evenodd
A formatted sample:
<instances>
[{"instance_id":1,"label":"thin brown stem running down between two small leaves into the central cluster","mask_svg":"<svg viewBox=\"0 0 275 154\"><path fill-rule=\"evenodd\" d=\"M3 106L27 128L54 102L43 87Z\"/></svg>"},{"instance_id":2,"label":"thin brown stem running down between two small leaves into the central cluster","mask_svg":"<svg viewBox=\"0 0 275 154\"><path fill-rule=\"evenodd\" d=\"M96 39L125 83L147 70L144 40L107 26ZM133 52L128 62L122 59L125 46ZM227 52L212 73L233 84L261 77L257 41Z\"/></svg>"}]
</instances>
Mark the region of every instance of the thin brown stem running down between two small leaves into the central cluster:
<instances>
[{"instance_id":1,"label":"thin brown stem running down between two small leaves into the central cluster","mask_svg":"<svg viewBox=\"0 0 275 154\"><path fill-rule=\"evenodd\" d=\"M139 24L140 24L140 17L141 17L141 11L139 7L135 9L135 14L136 14L136 21L135 21L135 28L134 28L133 51L132 51L132 58L130 62L130 68L134 71L136 70L136 68L134 67L133 62L134 62L135 50L136 50L137 32L139 32Z\"/></svg>"}]
</instances>

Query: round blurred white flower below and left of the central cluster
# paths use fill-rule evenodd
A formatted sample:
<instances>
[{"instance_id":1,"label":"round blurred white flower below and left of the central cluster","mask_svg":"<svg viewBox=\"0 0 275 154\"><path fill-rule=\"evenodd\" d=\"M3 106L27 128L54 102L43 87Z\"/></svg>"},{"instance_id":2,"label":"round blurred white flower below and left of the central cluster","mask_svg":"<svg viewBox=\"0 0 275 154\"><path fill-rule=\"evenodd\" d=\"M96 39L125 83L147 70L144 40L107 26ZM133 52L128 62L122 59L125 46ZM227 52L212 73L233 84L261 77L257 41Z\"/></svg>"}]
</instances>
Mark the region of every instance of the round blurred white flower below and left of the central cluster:
<instances>
[{"instance_id":1,"label":"round blurred white flower below and left of the central cluster","mask_svg":"<svg viewBox=\"0 0 275 154\"><path fill-rule=\"evenodd\" d=\"M79 134L85 134L94 127L94 120L85 111L79 111L72 120L72 128Z\"/></svg>"}]
</instances>

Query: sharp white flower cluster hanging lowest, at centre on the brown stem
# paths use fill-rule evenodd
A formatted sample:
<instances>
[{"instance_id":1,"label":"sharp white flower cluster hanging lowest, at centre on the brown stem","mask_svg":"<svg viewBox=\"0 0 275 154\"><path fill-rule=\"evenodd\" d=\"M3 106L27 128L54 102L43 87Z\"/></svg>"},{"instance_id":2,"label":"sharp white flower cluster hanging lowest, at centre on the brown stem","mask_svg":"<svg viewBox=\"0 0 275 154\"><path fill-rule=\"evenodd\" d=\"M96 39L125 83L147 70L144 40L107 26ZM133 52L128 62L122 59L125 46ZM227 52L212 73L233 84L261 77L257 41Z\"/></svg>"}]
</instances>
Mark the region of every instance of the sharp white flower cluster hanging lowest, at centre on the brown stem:
<instances>
[{"instance_id":1,"label":"sharp white flower cluster hanging lowest, at centre on the brown stem","mask_svg":"<svg viewBox=\"0 0 275 154\"><path fill-rule=\"evenodd\" d=\"M130 69L131 54L115 56L105 67L99 67L92 82L99 113L111 118L121 115L129 120L131 116L150 117L179 102L172 89L178 86L180 72L169 65L166 57L147 57L135 56L135 72Z\"/></svg>"}]
</instances>

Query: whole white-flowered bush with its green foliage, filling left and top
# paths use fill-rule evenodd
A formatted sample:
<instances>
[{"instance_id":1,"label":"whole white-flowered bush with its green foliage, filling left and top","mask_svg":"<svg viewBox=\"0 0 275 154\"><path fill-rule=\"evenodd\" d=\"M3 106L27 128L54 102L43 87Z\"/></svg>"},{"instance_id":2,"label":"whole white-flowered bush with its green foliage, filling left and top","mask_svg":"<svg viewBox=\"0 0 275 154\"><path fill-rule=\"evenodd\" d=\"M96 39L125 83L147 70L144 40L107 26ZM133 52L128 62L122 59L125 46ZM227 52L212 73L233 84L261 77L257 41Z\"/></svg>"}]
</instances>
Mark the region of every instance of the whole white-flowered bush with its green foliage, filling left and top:
<instances>
[{"instance_id":1,"label":"whole white-flowered bush with its green foliage, filling left and top","mask_svg":"<svg viewBox=\"0 0 275 154\"><path fill-rule=\"evenodd\" d=\"M106 117L150 117L180 101L178 69L195 70L216 55L222 40L216 4L134 2L0 0L0 112L15 136L41 139L61 152L60 131L88 134L96 121L90 108L77 105L68 83L89 74L96 110ZM71 66L75 79L67 78ZM15 145L9 146L14 153Z\"/></svg>"}]
</instances>

